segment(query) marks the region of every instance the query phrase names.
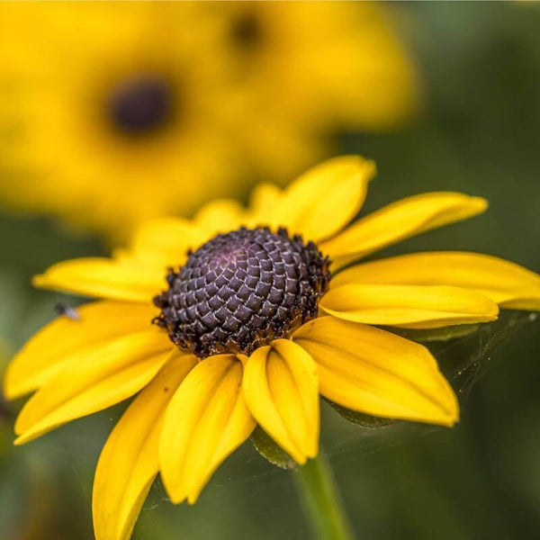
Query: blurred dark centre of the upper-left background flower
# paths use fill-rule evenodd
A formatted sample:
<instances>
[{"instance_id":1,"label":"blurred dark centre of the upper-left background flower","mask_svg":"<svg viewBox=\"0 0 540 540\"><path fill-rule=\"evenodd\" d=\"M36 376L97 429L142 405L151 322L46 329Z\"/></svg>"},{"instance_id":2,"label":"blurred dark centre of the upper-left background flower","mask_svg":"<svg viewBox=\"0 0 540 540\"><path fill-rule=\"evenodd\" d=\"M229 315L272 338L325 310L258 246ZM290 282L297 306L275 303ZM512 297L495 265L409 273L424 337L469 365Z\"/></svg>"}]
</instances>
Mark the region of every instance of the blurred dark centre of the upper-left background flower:
<instances>
[{"instance_id":1,"label":"blurred dark centre of the upper-left background flower","mask_svg":"<svg viewBox=\"0 0 540 540\"><path fill-rule=\"evenodd\" d=\"M116 85L107 103L109 121L129 135L163 128L173 115L173 88L161 76L134 76Z\"/></svg>"}]
</instances>

